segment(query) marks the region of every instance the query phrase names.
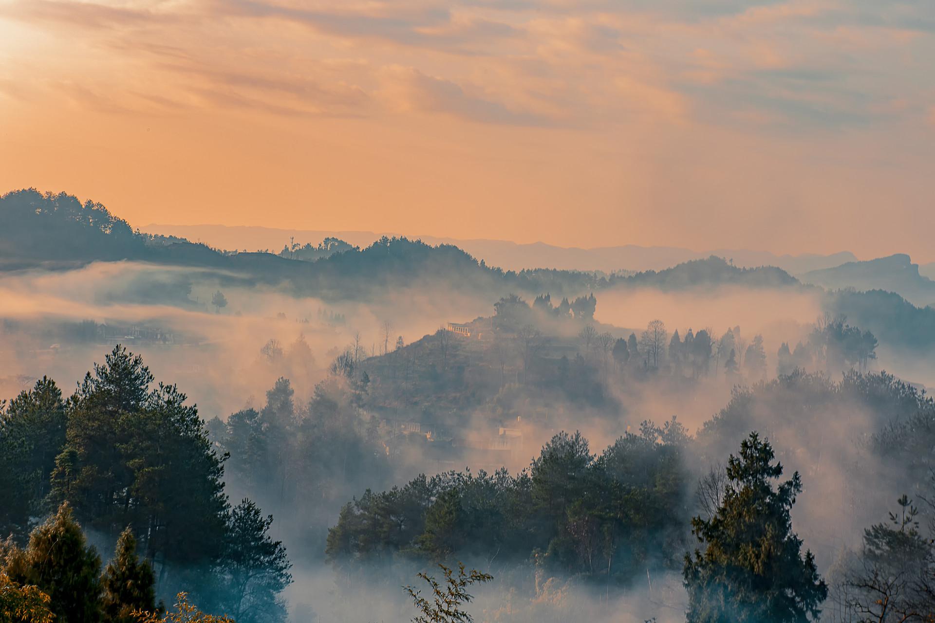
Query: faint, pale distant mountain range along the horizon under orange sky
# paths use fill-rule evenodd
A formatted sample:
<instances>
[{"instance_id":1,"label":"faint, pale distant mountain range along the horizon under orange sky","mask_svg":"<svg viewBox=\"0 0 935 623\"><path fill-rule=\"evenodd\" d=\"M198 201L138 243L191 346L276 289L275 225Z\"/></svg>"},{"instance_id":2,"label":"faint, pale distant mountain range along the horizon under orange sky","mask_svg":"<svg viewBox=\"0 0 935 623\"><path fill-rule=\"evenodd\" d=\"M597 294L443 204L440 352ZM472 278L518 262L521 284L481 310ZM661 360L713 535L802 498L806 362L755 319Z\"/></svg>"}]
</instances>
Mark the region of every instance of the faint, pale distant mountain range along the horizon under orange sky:
<instances>
[{"instance_id":1,"label":"faint, pale distant mountain range along the horizon under orange sky","mask_svg":"<svg viewBox=\"0 0 935 623\"><path fill-rule=\"evenodd\" d=\"M352 245L367 247L382 235L374 232L324 232L312 230L273 229L269 227L230 227L226 225L158 225L151 224L141 231L147 234L174 235L194 242L203 242L214 248L227 249L280 249L295 240L296 243L318 244L326 237L336 237ZM413 236L410 236L410 238ZM698 252L677 247L640 247L624 245L602 248L568 248L547 245L542 242L518 244L508 240L417 236L430 245L454 245L463 248L478 260L504 270L525 268L554 268L558 270L604 271L619 270L647 271L662 270L682 262L703 260L712 255L732 260L741 267L776 266L796 275L811 270L838 266L856 260L853 253L841 252L833 255L774 255L765 251L743 249L715 249Z\"/></svg>"}]
</instances>

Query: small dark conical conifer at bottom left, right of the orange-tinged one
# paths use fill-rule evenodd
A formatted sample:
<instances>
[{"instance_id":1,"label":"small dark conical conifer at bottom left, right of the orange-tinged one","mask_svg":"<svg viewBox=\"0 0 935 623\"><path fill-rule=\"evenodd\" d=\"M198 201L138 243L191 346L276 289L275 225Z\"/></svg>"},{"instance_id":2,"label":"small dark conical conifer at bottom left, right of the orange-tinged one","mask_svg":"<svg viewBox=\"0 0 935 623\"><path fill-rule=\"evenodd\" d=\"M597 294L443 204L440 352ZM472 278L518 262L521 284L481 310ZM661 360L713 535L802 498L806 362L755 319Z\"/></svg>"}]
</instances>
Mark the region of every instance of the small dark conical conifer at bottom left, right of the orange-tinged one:
<instances>
[{"instance_id":1,"label":"small dark conical conifer at bottom left, right of the orange-tinged one","mask_svg":"<svg viewBox=\"0 0 935 623\"><path fill-rule=\"evenodd\" d=\"M133 623L134 613L154 611L155 577L149 560L137 557L137 539L129 528L117 541L114 558L101 576L104 589L104 620L108 623Z\"/></svg>"}]
</instances>

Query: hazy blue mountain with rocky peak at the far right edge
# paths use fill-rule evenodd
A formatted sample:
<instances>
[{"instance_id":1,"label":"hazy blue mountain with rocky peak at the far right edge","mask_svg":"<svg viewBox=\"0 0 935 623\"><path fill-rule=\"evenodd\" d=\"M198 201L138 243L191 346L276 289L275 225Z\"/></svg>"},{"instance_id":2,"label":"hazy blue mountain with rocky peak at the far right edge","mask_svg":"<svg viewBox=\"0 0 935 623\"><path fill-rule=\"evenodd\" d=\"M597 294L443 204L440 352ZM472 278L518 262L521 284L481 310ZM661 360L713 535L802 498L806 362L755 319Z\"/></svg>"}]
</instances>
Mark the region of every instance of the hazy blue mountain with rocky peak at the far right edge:
<instances>
[{"instance_id":1,"label":"hazy blue mountain with rocky peak at the far right edge","mask_svg":"<svg viewBox=\"0 0 935 623\"><path fill-rule=\"evenodd\" d=\"M834 268L815 270L799 276L811 283L832 290L886 290L896 292L907 301L926 306L935 303L935 281L919 272L908 255L898 253L869 262L847 262Z\"/></svg>"}]
</instances>

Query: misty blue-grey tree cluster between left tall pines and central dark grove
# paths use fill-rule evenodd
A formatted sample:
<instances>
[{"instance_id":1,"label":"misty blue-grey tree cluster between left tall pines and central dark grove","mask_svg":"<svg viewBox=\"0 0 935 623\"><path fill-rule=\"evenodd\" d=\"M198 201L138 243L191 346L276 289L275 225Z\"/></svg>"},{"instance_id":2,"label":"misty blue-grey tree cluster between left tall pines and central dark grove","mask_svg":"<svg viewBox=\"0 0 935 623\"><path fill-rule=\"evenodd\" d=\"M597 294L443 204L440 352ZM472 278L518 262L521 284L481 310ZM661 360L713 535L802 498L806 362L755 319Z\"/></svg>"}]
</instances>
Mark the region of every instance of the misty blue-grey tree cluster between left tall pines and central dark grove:
<instances>
[{"instance_id":1,"label":"misty blue-grey tree cluster between left tall pines and central dark grove","mask_svg":"<svg viewBox=\"0 0 935 623\"><path fill-rule=\"evenodd\" d=\"M262 408L207 424L217 451L229 455L228 487L263 506L290 509L284 530L301 535L295 543L309 557L319 555L325 527L352 491L391 476L378 420L360 409L366 373L355 373L351 354L338 358L333 373L307 404L295 404L292 384L281 377Z\"/></svg>"}]
</instances>

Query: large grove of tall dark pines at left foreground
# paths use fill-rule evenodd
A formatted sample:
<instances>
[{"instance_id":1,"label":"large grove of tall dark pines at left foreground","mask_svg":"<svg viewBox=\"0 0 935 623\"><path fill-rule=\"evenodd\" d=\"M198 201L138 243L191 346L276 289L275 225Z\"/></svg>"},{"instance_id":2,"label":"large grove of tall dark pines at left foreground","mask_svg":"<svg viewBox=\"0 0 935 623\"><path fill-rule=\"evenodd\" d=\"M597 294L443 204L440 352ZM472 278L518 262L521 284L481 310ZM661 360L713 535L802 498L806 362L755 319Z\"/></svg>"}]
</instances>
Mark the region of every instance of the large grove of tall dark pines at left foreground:
<instances>
[{"instance_id":1,"label":"large grove of tall dark pines at left foreground","mask_svg":"<svg viewBox=\"0 0 935 623\"><path fill-rule=\"evenodd\" d=\"M0 531L22 543L37 517L67 504L112 543L129 528L161 593L188 588L219 611L247 613L243 622L281 620L290 578L268 537L272 517L250 500L231 507L225 457L197 410L153 380L118 346L71 397L44 377L3 404Z\"/></svg>"}]
</instances>

